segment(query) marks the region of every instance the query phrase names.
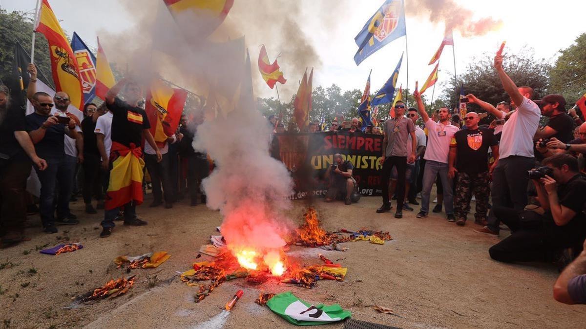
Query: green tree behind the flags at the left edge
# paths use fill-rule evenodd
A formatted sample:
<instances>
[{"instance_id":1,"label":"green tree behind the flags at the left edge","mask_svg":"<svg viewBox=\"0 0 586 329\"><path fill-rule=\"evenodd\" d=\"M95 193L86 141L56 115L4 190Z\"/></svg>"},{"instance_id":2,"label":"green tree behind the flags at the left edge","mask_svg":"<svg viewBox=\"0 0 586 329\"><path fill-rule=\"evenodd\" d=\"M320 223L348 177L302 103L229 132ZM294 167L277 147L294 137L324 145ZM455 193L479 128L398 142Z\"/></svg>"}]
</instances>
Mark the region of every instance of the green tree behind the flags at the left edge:
<instances>
[{"instance_id":1,"label":"green tree behind the flags at the left edge","mask_svg":"<svg viewBox=\"0 0 586 329\"><path fill-rule=\"evenodd\" d=\"M30 13L19 11L8 13L5 9L0 9L0 40L2 40L2 47L0 47L0 78L2 81L12 76L16 43L21 43L24 49L30 50L33 23L34 19ZM51 75L49 43L41 33L36 33L35 37L35 64L49 79L49 84L54 85Z\"/></svg>"}]
</instances>

